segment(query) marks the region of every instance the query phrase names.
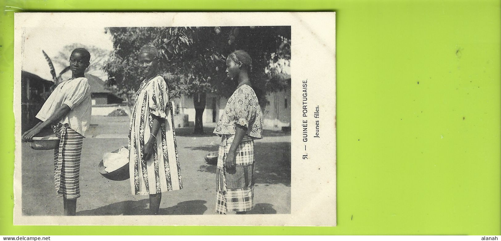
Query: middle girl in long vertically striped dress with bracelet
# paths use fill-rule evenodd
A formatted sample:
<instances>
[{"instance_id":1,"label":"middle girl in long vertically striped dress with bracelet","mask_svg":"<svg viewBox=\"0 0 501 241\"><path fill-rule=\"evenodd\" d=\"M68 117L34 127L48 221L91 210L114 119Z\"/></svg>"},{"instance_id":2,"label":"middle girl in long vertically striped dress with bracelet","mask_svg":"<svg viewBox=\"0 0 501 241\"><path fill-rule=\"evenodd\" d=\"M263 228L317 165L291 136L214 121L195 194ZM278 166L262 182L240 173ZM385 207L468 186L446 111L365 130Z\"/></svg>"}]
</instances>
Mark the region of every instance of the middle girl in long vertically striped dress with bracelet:
<instances>
[{"instance_id":1,"label":"middle girl in long vertically striped dress with bracelet","mask_svg":"<svg viewBox=\"0 0 501 241\"><path fill-rule=\"evenodd\" d=\"M150 212L158 214L162 192L182 189L172 108L165 80L158 74L158 51L139 53L145 79L139 86L129 129L132 194L149 194Z\"/></svg>"}]
</instances>

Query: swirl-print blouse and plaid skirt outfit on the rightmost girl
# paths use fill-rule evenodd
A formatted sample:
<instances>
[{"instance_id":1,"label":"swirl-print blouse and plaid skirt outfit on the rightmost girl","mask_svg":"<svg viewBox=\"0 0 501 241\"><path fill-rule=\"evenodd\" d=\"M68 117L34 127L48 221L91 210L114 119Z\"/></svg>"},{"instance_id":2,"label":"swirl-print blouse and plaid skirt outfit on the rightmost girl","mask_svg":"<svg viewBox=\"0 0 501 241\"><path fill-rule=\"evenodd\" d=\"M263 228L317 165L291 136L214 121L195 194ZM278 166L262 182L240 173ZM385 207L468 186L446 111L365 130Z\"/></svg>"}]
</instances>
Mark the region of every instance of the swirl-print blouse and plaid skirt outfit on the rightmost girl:
<instances>
[{"instance_id":1,"label":"swirl-print blouse and plaid skirt outfit on the rightmost girl","mask_svg":"<svg viewBox=\"0 0 501 241\"><path fill-rule=\"evenodd\" d=\"M227 171L224 160L237 125L246 127L247 133L236 149L234 170ZM263 138L263 112L252 87L241 85L233 92L213 133L221 136L216 170L216 213L251 210L254 207L254 140Z\"/></svg>"}]
</instances>

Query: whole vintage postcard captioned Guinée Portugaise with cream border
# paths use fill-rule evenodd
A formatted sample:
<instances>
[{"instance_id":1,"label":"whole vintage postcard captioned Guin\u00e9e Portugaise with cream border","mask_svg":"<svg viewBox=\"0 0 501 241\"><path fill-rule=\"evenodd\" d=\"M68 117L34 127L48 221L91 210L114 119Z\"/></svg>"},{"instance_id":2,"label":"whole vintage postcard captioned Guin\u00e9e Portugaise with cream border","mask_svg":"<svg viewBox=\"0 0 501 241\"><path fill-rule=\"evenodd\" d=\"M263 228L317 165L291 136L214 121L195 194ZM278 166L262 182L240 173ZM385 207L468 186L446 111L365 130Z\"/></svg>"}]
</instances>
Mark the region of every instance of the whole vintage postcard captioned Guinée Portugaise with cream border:
<instances>
[{"instance_id":1,"label":"whole vintage postcard captioned Guin\u00e9e Portugaise with cream border","mask_svg":"<svg viewBox=\"0 0 501 241\"><path fill-rule=\"evenodd\" d=\"M16 13L14 224L335 226L335 26Z\"/></svg>"}]
</instances>

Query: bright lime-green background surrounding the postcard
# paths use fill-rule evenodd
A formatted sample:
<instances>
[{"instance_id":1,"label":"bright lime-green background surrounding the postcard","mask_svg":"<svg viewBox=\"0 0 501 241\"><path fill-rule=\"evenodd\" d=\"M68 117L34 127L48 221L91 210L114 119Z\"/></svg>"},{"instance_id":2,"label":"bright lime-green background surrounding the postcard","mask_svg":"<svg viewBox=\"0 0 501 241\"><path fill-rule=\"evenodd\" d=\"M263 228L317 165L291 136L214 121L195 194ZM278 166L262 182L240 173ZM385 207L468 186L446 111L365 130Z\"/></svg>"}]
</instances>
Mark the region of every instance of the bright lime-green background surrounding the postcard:
<instances>
[{"instance_id":1,"label":"bright lime-green background surrounding the postcard","mask_svg":"<svg viewBox=\"0 0 501 241\"><path fill-rule=\"evenodd\" d=\"M501 233L498 1L141 2L0 5L26 12L336 11L338 226L13 226L14 11L2 11L0 234ZM334 207L317 211L324 208Z\"/></svg>"}]
</instances>

